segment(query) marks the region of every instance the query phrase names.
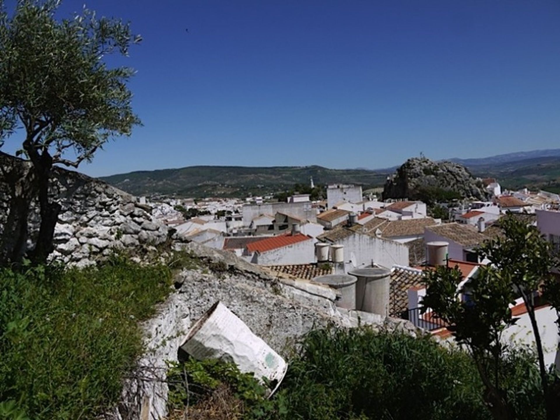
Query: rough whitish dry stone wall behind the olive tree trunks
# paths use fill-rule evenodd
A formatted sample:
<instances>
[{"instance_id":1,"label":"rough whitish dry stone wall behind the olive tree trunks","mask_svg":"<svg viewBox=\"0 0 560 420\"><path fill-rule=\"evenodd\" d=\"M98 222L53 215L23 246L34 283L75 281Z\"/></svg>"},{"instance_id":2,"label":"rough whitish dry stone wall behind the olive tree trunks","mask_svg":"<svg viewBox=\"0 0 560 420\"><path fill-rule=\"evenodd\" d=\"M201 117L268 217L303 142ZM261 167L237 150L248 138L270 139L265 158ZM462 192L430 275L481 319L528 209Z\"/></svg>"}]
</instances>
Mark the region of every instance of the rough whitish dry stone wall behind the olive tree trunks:
<instances>
[{"instance_id":1,"label":"rough whitish dry stone wall behind the olive tree trunks","mask_svg":"<svg viewBox=\"0 0 560 420\"><path fill-rule=\"evenodd\" d=\"M2 155L2 164L21 160ZM169 229L151 215L150 206L138 204L136 197L98 179L57 168L50 195L62 205L54 232L55 250L50 259L85 266L110 255L114 250L134 249L165 242ZM7 219L10 188L0 178L0 230ZM34 246L39 229L36 205L29 219L28 248Z\"/></svg>"}]
</instances>

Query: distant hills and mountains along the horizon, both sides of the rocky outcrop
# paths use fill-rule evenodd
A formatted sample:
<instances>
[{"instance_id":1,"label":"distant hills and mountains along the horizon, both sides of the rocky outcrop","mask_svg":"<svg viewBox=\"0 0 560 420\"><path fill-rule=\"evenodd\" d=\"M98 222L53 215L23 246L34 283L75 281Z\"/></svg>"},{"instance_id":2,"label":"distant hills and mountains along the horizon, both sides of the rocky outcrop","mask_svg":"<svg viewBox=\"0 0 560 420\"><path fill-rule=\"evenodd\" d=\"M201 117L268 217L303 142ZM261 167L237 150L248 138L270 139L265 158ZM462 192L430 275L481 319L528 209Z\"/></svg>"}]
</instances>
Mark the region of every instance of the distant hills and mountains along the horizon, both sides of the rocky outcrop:
<instances>
[{"instance_id":1,"label":"distant hills and mountains along the horizon, both sides of the rocky outcrop","mask_svg":"<svg viewBox=\"0 0 560 420\"><path fill-rule=\"evenodd\" d=\"M475 159L446 159L467 167L474 176L497 178L506 188L544 188L560 192L560 149L531 150ZM382 187L395 168L328 169L307 167L193 166L178 169L136 171L101 177L134 195L178 197L243 197L266 195L294 184L360 184Z\"/></svg>"}]
</instances>

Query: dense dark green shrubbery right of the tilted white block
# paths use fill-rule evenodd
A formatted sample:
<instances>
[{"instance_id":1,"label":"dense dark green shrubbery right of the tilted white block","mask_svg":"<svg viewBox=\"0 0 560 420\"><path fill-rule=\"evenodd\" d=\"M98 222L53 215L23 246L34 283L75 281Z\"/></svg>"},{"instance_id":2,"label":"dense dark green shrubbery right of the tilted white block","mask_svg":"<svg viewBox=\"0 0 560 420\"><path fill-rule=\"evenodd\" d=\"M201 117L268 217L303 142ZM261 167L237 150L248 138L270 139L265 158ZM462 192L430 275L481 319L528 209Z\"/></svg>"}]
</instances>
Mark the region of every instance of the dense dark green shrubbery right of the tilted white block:
<instances>
[{"instance_id":1,"label":"dense dark green shrubbery right of the tilted white block","mask_svg":"<svg viewBox=\"0 0 560 420\"><path fill-rule=\"evenodd\" d=\"M465 353L367 327L307 335L281 388L281 419L489 418Z\"/></svg>"}]
</instances>

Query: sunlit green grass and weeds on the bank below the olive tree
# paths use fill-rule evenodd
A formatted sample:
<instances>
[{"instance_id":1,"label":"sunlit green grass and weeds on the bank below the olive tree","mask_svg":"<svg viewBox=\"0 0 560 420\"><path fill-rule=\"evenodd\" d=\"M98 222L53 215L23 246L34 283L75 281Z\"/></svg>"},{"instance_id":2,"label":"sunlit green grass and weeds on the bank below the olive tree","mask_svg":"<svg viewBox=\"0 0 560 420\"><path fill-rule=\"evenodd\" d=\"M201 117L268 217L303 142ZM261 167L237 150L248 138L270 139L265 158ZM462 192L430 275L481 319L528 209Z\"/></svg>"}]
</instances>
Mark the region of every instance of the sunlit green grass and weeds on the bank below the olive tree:
<instances>
[{"instance_id":1,"label":"sunlit green grass and weeds on the bank below the olive tree","mask_svg":"<svg viewBox=\"0 0 560 420\"><path fill-rule=\"evenodd\" d=\"M83 270L0 269L0 401L34 420L101 413L142 351L138 321L170 281L166 265L118 257Z\"/></svg>"}]
</instances>

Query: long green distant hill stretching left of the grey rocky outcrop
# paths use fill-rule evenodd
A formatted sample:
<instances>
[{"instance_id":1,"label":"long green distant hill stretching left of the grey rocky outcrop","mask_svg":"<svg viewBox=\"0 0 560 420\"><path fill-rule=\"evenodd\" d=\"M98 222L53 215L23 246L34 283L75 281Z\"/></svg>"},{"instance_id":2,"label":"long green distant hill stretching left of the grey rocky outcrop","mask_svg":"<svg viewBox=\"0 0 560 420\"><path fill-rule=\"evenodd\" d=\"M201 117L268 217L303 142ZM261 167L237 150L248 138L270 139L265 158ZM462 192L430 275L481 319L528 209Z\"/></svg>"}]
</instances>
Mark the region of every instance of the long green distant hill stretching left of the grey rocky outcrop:
<instances>
[{"instance_id":1,"label":"long green distant hill stretching left of the grey rocky outcrop","mask_svg":"<svg viewBox=\"0 0 560 420\"><path fill-rule=\"evenodd\" d=\"M353 183L364 188L380 187L389 170L328 169L309 167L218 167L138 171L102 177L102 181L134 195L182 197L241 197L288 190L294 184Z\"/></svg>"}]
</instances>

